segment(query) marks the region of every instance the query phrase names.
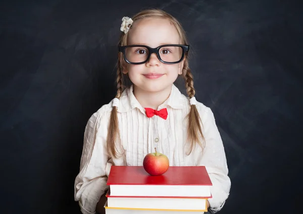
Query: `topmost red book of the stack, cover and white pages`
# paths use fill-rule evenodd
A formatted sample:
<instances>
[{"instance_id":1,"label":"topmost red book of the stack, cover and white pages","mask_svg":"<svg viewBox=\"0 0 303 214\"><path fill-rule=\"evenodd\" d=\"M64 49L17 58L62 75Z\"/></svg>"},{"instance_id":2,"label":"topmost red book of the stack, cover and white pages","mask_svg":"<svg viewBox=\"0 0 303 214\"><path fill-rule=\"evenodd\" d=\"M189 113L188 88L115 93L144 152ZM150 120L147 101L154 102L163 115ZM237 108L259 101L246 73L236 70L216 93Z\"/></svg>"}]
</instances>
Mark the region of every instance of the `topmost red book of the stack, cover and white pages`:
<instances>
[{"instance_id":1,"label":"topmost red book of the stack, cover and white pages","mask_svg":"<svg viewBox=\"0 0 303 214\"><path fill-rule=\"evenodd\" d=\"M160 176L142 166L112 166L107 181L111 196L211 197L205 166L170 166Z\"/></svg>"}]
</instances>

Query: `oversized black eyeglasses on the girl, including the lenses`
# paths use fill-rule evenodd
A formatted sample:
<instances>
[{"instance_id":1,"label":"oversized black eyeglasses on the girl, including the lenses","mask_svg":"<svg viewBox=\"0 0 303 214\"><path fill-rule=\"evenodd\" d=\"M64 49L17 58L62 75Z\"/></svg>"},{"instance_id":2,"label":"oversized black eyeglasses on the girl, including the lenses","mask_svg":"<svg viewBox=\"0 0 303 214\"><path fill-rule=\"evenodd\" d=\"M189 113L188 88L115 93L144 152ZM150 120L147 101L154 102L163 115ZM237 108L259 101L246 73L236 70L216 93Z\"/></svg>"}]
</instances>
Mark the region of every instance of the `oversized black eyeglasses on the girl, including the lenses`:
<instances>
[{"instance_id":1,"label":"oversized black eyeglasses on the girl, including the lenses","mask_svg":"<svg viewBox=\"0 0 303 214\"><path fill-rule=\"evenodd\" d=\"M189 45L168 44L151 48L147 45L118 46L119 52L123 53L124 59L129 64L143 64L149 60L152 53L156 53L159 60L166 64L175 64L183 60Z\"/></svg>"}]
</instances>

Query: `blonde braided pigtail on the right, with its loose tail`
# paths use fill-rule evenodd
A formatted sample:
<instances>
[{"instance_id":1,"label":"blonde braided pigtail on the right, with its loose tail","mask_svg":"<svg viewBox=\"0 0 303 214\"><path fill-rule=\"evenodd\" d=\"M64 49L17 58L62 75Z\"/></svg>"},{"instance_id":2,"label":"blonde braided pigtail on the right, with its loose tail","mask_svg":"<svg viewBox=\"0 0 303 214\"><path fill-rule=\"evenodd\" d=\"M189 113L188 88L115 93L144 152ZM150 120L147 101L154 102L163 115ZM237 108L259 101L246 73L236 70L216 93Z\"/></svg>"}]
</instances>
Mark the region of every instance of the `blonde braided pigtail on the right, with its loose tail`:
<instances>
[{"instance_id":1,"label":"blonde braided pigtail on the right, with its loose tail","mask_svg":"<svg viewBox=\"0 0 303 214\"><path fill-rule=\"evenodd\" d=\"M190 68L188 67L188 60L184 61L182 74L185 81L187 95L189 98L192 98L195 95L195 90L193 88L193 76L191 74ZM195 144L199 144L201 148L203 148L201 144L201 140L204 141L204 135L201 129L200 115L195 105L191 105L190 112L188 113L187 117L188 117L187 140L190 143L190 150L189 153L187 153L187 155L189 155Z\"/></svg>"}]
</instances>

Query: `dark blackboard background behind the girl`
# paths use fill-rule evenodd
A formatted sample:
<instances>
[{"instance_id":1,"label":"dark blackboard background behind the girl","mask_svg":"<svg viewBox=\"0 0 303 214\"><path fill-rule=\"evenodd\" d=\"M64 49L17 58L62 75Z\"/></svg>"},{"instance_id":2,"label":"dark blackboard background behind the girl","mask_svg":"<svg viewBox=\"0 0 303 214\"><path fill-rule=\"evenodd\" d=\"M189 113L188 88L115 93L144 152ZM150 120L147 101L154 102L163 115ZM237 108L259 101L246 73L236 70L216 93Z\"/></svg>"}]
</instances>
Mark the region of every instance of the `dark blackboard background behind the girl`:
<instances>
[{"instance_id":1,"label":"dark blackboard background behind the girl","mask_svg":"<svg viewBox=\"0 0 303 214\"><path fill-rule=\"evenodd\" d=\"M80 213L84 127L115 96L122 17L148 7L188 33L232 181L220 213L299 212L303 13L289 0L1 1L0 212Z\"/></svg>"}]
</instances>

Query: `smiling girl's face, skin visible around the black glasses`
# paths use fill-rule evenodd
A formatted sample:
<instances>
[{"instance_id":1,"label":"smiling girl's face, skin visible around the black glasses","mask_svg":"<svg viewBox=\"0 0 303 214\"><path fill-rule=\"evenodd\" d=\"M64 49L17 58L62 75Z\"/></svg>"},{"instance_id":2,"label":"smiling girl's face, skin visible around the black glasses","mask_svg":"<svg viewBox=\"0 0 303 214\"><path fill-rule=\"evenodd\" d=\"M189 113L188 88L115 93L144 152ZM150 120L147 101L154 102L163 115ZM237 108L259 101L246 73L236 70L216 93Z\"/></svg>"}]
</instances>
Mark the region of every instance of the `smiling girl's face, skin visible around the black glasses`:
<instances>
[{"instance_id":1,"label":"smiling girl's face, skin visible around the black glasses","mask_svg":"<svg viewBox=\"0 0 303 214\"><path fill-rule=\"evenodd\" d=\"M167 19L145 18L134 22L128 32L127 45L147 45L151 48L163 44L180 44L179 34ZM144 54L144 50L135 50ZM164 53L169 53L164 50ZM170 90L178 75L182 74L184 60L177 64L165 64L153 53L144 64L128 64L124 74L134 84L134 90L160 92Z\"/></svg>"}]
</instances>

